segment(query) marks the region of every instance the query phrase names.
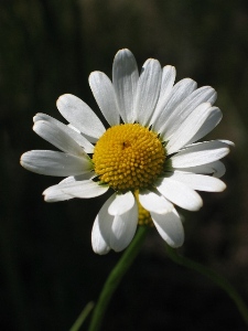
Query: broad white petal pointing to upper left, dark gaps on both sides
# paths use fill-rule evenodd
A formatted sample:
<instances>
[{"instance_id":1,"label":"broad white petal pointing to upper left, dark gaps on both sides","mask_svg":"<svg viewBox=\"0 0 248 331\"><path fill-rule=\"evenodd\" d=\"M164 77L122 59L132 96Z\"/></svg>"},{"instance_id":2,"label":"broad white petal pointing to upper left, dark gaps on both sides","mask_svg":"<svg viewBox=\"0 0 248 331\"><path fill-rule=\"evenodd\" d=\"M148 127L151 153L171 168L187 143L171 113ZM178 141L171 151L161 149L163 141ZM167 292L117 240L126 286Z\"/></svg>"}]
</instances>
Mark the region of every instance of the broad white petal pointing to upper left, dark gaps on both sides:
<instances>
[{"instance_id":1,"label":"broad white petal pointing to upper left, dark gaps on both sides","mask_svg":"<svg viewBox=\"0 0 248 331\"><path fill-rule=\"evenodd\" d=\"M89 137L99 138L105 132L105 127L96 114L72 94L64 94L57 99L57 109L68 122Z\"/></svg>"}]
</instances>

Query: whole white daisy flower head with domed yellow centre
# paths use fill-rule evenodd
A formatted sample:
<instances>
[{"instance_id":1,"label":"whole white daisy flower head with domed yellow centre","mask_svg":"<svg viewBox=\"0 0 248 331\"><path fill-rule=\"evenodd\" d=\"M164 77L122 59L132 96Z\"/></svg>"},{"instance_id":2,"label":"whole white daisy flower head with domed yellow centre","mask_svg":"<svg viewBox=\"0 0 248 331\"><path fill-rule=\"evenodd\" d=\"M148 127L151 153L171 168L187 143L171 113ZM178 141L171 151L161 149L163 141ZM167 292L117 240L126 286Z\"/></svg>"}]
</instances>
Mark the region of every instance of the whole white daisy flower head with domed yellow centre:
<instances>
[{"instance_id":1,"label":"whole white daisy flower head with domed yellow centre","mask_svg":"<svg viewBox=\"0 0 248 331\"><path fill-rule=\"evenodd\" d=\"M34 116L34 131L61 151L32 150L21 164L33 172L66 177L44 191L45 201L93 197L112 190L96 216L91 243L98 254L120 252L138 224L153 223L172 247L184 242L175 205L197 211L197 191L220 192L226 185L219 161L231 142L196 142L213 130L222 113L216 92L184 78L175 68L149 58L139 75L129 50L114 60L112 82L101 72L89 76L94 97L109 124L74 95L62 95L57 108L68 125L45 114Z\"/></svg>"}]
</instances>

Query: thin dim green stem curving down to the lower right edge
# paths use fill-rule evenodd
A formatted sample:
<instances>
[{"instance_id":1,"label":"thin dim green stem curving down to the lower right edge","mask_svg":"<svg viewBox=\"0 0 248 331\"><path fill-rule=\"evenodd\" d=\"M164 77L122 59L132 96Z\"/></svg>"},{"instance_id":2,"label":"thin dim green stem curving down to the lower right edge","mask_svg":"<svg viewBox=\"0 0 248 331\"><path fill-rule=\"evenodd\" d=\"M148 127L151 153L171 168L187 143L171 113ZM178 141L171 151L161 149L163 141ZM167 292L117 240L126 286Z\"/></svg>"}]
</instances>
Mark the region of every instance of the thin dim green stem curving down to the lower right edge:
<instances>
[{"instance_id":1,"label":"thin dim green stem curving down to the lower right edge","mask_svg":"<svg viewBox=\"0 0 248 331\"><path fill-rule=\"evenodd\" d=\"M186 258L182 255L180 255L175 249L166 245L166 252L168 256L175 261L176 264L184 266L188 269L193 269L207 278L209 278L213 282L215 282L217 286L219 286L230 297L230 299L235 302L236 307L238 308L244 321L246 324L248 324L248 308L246 303L244 302L242 298L239 296L239 293L236 291L236 289L233 287L233 285L223 276L218 275L216 271L202 266L198 263L195 263L194 260Z\"/></svg>"}]
</instances>

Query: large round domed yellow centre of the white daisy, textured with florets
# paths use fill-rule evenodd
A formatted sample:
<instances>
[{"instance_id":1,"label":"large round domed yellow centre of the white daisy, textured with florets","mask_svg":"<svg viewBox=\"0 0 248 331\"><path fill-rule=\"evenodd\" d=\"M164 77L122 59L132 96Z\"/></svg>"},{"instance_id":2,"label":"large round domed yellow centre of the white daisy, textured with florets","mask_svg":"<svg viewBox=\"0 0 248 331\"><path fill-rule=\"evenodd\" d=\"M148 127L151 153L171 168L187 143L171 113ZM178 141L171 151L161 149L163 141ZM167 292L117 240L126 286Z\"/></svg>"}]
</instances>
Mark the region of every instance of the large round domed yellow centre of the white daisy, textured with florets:
<instances>
[{"instance_id":1,"label":"large round domed yellow centre of the white daisy, textured with florets","mask_svg":"<svg viewBox=\"0 0 248 331\"><path fill-rule=\"evenodd\" d=\"M103 183L116 191L150 185L162 172L165 149L158 134L139 124L109 128L97 141L93 162Z\"/></svg>"}]
</instances>

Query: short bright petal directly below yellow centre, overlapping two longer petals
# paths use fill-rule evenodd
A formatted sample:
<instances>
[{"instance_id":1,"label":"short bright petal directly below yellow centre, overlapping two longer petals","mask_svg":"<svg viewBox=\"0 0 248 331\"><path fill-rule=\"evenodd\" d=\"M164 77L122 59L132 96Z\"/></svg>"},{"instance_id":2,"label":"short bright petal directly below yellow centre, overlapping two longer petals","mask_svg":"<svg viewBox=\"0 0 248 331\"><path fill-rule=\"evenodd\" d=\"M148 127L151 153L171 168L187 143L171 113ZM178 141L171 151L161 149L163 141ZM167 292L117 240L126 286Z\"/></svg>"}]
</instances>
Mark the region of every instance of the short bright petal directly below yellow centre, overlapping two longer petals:
<instances>
[{"instance_id":1,"label":"short bright petal directly below yellow centre, overlapping two longer petals","mask_svg":"<svg viewBox=\"0 0 248 331\"><path fill-rule=\"evenodd\" d=\"M114 196L115 200L108 209L110 215L115 216L127 213L134 204L134 196L130 191L125 194L115 193Z\"/></svg>"}]
</instances>

